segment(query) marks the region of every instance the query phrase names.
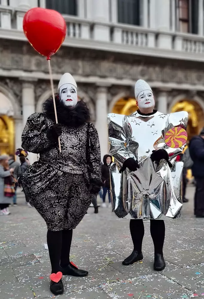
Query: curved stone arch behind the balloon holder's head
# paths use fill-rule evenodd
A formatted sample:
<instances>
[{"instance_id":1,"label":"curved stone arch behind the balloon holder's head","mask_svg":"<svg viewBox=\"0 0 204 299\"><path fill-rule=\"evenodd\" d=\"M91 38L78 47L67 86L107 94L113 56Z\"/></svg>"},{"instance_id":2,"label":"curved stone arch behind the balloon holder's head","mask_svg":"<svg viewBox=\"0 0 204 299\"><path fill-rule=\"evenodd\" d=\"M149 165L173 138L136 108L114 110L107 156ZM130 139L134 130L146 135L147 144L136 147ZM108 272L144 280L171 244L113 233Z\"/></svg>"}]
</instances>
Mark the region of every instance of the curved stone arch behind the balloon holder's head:
<instances>
[{"instance_id":1,"label":"curved stone arch behind the balloon holder's head","mask_svg":"<svg viewBox=\"0 0 204 299\"><path fill-rule=\"evenodd\" d=\"M57 93L57 91L58 89L55 88L54 93ZM91 121L95 121L95 107L90 97L87 96L85 92L81 91L80 88L77 89L77 95L78 97L83 98L83 101L86 103L87 107L89 108ZM39 97L36 104L36 112L38 113L42 112L43 103L51 96L52 96L52 91L48 89Z\"/></svg>"}]
</instances>

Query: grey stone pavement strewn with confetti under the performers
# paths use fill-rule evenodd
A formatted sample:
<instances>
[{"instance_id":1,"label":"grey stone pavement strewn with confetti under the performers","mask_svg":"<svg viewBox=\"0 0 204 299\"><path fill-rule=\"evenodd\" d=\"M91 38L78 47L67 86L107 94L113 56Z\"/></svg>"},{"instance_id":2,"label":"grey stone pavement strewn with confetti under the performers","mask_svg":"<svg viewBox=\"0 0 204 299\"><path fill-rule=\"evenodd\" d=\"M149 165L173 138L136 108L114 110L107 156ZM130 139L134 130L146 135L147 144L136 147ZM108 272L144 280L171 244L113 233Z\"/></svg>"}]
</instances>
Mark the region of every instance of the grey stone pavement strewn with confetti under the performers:
<instances>
[{"instance_id":1,"label":"grey stone pavement strewn with confetti under the performers","mask_svg":"<svg viewBox=\"0 0 204 299\"><path fill-rule=\"evenodd\" d=\"M188 187L189 203L182 217L166 221L167 267L153 270L153 243L145 222L144 260L132 266L121 261L132 252L129 221L118 219L108 208L94 214L89 208L74 230L71 260L88 270L84 278L63 277L60 299L176 299L204 298L204 219L193 216L194 187ZM19 205L0 217L0 299L55 298L49 291L50 263L45 249L46 227L34 208Z\"/></svg>"}]
</instances>

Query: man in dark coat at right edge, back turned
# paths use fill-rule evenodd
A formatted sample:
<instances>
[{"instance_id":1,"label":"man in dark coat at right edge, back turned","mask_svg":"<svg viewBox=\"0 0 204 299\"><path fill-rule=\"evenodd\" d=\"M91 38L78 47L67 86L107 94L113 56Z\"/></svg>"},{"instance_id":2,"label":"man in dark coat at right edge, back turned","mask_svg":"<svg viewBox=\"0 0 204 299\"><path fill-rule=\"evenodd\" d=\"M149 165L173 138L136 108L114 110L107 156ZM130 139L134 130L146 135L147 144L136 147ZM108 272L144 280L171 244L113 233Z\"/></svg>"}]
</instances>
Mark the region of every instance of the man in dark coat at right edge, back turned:
<instances>
[{"instance_id":1,"label":"man in dark coat at right edge, back turned","mask_svg":"<svg viewBox=\"0 0 204 299\"><path fill-rule=\"evenodd\" d=\"M194 162L192 174L196 180L194 214L196 217L204 217L204 128L199 136L194 136L191 139L189 151Z\"/></svg>"}]
</instances>

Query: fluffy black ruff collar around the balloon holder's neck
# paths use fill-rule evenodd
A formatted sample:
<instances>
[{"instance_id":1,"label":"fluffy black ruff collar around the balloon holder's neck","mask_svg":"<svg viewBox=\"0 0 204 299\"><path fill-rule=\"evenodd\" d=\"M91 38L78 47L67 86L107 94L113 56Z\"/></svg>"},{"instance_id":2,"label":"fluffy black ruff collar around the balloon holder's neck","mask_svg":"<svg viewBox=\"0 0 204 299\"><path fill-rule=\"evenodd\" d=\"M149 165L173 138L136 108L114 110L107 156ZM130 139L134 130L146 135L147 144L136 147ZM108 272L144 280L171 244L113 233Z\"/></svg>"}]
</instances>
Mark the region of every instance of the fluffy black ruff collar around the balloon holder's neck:
<instances>
[{"instance_id":1,"label":"fluffy black ruff collar around the balloon holder's neck","mask_svg":"<svg viewBox=\"0 0 204 299\"><path fill-rule=\"evenodd\" d=\"M86 103L82 100L77 103L73 110L63 106L58 97L55 97L55 103L57 118L60 124L71 127L79 127L90 119L89 109L87 108ZM43 112L45 112L51 120L55 121L54 103L52 98L46 100L43 104Z\"/></svg>"}]
</instances>

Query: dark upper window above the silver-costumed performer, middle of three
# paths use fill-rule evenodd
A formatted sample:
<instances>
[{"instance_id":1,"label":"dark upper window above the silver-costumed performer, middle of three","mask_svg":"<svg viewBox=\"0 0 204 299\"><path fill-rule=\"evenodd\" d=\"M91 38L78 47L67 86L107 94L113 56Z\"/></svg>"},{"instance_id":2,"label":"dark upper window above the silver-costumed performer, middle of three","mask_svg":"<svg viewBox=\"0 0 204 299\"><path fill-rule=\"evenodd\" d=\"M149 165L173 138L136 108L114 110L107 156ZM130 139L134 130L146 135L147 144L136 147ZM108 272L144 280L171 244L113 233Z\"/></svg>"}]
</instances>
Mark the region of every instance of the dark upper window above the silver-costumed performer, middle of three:
<instances>
[{"instance_id":1,"label":"dark upper window above the silver-costumed performer, middle of three","mask_svg":"<svg viewBox=\"0 0 204 299\"><path fill-rule=\"evenodd\" d=\"M118 22L140 25L140 0L118 0Z\"/></svg>"}]
</instances>

